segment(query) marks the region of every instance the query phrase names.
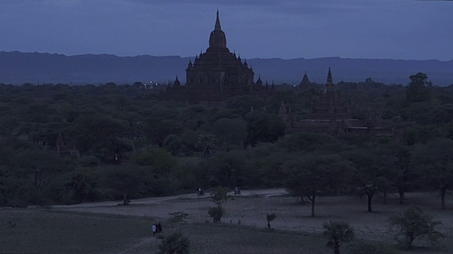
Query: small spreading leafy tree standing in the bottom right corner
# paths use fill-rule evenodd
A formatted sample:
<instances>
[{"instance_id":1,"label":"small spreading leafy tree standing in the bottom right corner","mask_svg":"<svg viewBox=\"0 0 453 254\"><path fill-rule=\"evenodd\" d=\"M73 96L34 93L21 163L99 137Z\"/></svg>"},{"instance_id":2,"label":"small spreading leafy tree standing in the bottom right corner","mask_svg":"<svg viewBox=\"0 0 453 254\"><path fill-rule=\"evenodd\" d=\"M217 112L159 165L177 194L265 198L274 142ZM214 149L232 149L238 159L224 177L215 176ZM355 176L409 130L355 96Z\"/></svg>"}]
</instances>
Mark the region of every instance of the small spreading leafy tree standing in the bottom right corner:
<instances>
[{"instance_id":1,"label":"small spreading leafy tree standing in the bottom right corner","mask_svg":"<svg viewBox=\"0 0 453 254\"><path fill-rule=\"evenodd\" d=\"M445 237L440 231L435 230L435 226L442 222L433 220L430 214L423 213L420 207L411 205L403 214L398 214L389 219L392 226L398 227L398 238L406 249L411 248L416 238L426 237L432 242L437 242L439 238Z\"/></svg>"}]
</instances>

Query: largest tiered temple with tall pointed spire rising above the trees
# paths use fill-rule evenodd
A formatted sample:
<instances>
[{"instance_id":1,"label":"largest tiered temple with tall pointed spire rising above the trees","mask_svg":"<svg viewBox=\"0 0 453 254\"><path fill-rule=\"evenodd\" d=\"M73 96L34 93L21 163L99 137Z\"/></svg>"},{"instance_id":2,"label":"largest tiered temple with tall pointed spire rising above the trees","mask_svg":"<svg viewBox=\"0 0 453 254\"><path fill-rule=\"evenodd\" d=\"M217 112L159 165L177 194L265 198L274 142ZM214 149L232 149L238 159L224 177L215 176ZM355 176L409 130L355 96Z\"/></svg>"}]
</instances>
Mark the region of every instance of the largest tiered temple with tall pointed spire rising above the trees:
<instances>
[{"instance_id":1,"label":"largest tiered temple with tall pointed spire rising above the trees","mask_svg":"<svg viewBox=\"0 0 453 254\"><path fill-rule=\"evenodd\" d=\"M253 81L253 69L241 56L231 53L226 47L226 36L222 31L219 11L210 34L209 47L205 53L190 60L185 70L186 84L181 85L176 77L173 86L168 86L167 99L188 102L222 102L236 95L270 94L270 87L263 86L258 78Z\"/></svg>"}]
</instances>

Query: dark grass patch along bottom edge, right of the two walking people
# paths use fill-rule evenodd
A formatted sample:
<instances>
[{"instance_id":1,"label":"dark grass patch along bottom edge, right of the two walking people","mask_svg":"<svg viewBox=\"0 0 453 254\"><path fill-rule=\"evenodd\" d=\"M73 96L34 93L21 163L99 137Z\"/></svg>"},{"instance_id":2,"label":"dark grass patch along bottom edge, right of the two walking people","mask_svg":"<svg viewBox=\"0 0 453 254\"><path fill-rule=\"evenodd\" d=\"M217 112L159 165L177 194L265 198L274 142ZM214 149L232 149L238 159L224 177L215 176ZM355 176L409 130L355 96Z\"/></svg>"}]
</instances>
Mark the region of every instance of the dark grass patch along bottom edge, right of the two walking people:
<instances>
[{"instance_id":1,"label":"dark grass patch along bottom edge, right of the two walking people","mask_svg":"<svg viewBox=\"0 0 453 254\"><path fill-rule=\"evenodd\" d=\"M168 230L182 231L190 238L193 253L331 253L317 234L268 230L235 224L171 224Z\"/></svg>"}]
</instances>

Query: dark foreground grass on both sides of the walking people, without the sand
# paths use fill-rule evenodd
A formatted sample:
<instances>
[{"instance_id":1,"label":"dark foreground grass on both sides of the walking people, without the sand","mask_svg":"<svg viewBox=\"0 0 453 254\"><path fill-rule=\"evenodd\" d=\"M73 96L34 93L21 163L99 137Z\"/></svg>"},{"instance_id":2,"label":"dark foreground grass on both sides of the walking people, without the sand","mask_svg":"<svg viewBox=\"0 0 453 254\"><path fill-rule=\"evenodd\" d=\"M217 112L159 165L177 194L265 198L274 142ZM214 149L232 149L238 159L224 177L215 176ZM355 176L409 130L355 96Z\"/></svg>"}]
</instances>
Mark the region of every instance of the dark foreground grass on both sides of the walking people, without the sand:
<instances>
[{"instance_id":1,"label":"dark foreground grass on both sides of the walking people, without the sand","mask_svg":"<svg viewBox=\"0 0 453 254\"><path fill-rule=\"evenodd\" d=\"M0 210L0 253L154 253L151 219L52 210ZM8 226L16 222L16 227ZM312 234L230 224L168 224L190 237L192 253L330 253Z\"/></svg>"}]
</instances>

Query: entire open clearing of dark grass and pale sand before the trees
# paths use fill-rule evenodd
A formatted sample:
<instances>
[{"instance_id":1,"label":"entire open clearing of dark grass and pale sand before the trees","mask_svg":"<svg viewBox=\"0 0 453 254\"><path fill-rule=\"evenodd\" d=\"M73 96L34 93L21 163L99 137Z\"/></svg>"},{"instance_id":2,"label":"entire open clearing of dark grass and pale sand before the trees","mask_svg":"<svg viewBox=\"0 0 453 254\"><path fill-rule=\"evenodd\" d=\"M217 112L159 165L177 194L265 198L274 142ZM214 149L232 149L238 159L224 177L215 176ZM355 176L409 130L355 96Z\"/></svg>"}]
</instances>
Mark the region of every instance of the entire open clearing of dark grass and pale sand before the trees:
<instances>
[{"instance_id":1,"label":"entire open clearing of dark grass and pale sand before the trees","mask_svg":"<svg viewBox=\"0 0 453 254\"><path fill-rule=\"evenodd\" d=\"M366 211L366 200L350 197L320 198L317 217L309 217L310 205L297 205L293 198L277 196L281 190L243 191L226 202L223 224L205 223L209 198L180 195L133 200L129 206L98 202L51 209L1 209L0 253L154 253L158 240L150 237L152 222L163 222L164 233L179 230L190 238L193 253L331 253L324 247L321 225L329 219L349 222L357 237L391 243L387 218L407 205L396 197L389 204L374 200L374 211ZM435 193L408 193L406 204L415 204L443 222L445 248L415 249L403 253L453 253L453 209L440 210ZM169 212L190 214L187 224L167 222ZM275 230L265 228L265 214L275 212ZM241 225L238 224L239 219ZM16 222L11 227L8 222ZM230 224L231 223L231 224Z\"/></svg>"}]
</instances>

